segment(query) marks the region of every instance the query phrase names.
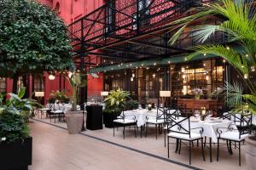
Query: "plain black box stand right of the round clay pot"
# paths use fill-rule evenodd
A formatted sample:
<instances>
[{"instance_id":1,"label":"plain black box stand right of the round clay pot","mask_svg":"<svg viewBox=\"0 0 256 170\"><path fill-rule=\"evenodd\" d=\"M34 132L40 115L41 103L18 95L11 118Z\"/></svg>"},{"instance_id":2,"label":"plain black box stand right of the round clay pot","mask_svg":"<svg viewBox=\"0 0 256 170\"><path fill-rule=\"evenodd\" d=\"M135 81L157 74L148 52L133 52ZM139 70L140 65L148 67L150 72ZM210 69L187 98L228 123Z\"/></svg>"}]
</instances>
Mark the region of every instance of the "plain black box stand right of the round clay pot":
<instances>
[{"instance_id":1,"label":"plain black box stand right of the round clay pot","mask_svg":"<svg viewBox=\"0 0 256 170\"><path fill-rule=\"evenodd\" d=\"M86 128L89 130L102 129L102 105L87 105Z\"/></svg>"}]
</instances>

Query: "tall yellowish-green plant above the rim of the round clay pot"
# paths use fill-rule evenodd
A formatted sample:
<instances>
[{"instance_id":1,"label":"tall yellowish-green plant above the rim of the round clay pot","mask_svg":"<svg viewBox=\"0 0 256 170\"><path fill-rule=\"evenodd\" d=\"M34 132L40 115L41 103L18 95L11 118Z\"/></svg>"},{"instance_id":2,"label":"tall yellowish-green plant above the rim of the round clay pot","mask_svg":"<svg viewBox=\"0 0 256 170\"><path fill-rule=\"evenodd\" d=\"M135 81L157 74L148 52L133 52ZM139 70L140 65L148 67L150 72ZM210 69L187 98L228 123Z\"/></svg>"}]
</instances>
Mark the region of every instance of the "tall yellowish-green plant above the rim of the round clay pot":
<instances>
[{"instance_id":1,"label":"tall yellowish-green plant above the rim of the round clay pot","mask_svg":"<svg viewBox=\"0 0 256 170\"><path fill-rule=\"evenodd\" d=\"M72 88L72 109L71 111L77 111L77 105L79 101L79 93L80 88L84 88L86 86L86 75L81 75L80 73L76 72L68 77L70 86Z\"/></svg>"}]
</instances>

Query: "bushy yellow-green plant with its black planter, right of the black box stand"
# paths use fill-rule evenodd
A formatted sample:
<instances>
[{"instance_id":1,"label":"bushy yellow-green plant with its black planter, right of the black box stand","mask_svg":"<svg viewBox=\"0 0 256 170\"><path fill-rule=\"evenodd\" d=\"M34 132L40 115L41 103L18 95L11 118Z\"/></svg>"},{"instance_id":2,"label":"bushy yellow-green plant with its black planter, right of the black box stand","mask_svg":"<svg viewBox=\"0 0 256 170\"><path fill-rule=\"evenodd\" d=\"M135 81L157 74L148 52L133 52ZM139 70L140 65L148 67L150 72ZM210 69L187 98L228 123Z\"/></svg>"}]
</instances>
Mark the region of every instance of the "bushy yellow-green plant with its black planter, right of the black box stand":
<instances>
[{"instance_id":1,"label":"bushy yellow-green plant with its black planter, right of the black box stand","mask_svg":"<svg viewBox=\"0 0 256 170\"><path fill-rule=\"evenodd\" d=\"M104 99L105 110L103 119L105 127L113 127L113 120L119 116L125 109L125 101L130 97L130 93L122 89L110 91L108 97Z\"/></svg>"}]
</instances>

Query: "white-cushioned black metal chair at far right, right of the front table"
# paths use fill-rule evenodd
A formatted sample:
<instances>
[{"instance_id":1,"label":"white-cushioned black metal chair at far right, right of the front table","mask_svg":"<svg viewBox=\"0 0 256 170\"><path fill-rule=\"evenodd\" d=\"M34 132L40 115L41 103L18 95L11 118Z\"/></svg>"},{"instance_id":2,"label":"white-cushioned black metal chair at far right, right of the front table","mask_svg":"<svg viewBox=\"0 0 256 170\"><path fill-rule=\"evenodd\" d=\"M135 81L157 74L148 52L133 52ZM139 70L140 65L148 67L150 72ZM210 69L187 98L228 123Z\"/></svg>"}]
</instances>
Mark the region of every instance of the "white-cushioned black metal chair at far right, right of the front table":
<instances>
[{"instance_id":1,"label":"white-cushioned black metal chair at far right, right of the front table","mask_svg":"<svg viewBox=\"0 0 256 170\"><path fill-rule=\"evenodd\" d=\"M246 115L241 115L240 118L240 126L237 127L237 123L230 124L229 127L218 127L218 145L217 145L217 161L218 161L218 155L219 155L219 139L224 139L227 141L228 145L228 152L230 155L233 155L233 151L231 148L231 144L238 143L238 153L239 153L239 166L241 166L241 142L244 142L244 140L247 138L248 134L251 133L251 123L247 121ZM250 123L248 126L244 126L244 122Z\"/></svg>"}]
</instances>

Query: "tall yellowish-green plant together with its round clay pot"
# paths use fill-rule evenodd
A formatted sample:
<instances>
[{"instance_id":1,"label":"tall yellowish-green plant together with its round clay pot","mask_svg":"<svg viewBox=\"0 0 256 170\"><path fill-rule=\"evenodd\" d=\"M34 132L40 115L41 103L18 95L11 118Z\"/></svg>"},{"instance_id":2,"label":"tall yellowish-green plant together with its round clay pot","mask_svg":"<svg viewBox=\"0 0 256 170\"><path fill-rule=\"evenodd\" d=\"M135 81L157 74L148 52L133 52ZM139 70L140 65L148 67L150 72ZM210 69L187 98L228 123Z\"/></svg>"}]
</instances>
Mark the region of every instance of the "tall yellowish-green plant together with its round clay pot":
<instances>
[{"instance_id":1,"label":"tall yellowish-green plant together with its round clay pot","mask_svg":"<svg viewBox=\"0 0 256 170\"><path fill-rule=\"evenodd\" d=\"M77 105L80 88L83 88L86 85L86 82L83 76L81 76L79 73L73 73L70 77L68 77L68 80L73 92L71 97L72 108L70 111L67 111L65 116L68 133L76 134L81 132L84 122L84 111L78 111Z\"/></svg>"}]
</instances>

